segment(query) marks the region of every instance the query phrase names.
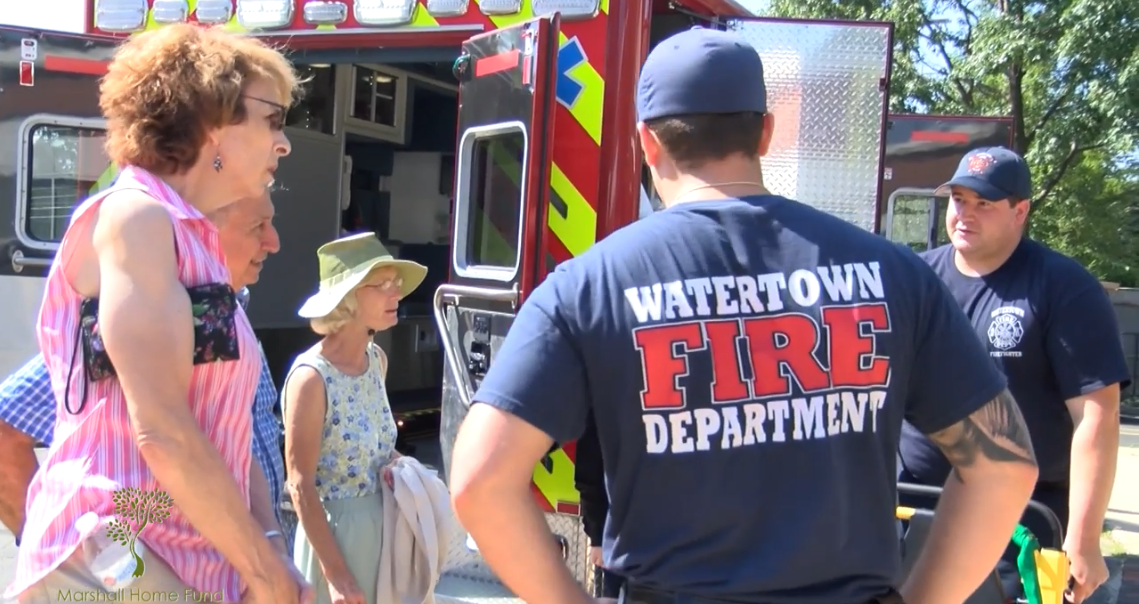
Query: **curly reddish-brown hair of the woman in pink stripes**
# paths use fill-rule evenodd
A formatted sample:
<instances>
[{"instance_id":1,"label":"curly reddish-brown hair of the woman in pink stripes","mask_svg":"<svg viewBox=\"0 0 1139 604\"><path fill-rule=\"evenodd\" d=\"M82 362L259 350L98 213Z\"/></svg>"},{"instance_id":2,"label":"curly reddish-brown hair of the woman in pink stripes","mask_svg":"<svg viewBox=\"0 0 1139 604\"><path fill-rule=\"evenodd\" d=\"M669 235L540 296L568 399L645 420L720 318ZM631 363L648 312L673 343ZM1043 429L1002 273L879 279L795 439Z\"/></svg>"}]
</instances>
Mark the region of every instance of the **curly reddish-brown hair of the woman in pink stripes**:
<instances>
[{"instance_id":1,"label":"curly reddish-brown hair of the woman in pink stripes","mask_svg":"<svg viewBox=\"0 0 1139 604\"><path fill-rule=\"evenodd\" d=\"M210 130L246 119L241 93L259 79L286 105L300 92L288 59L255 38L189 24L131 38L99 85L107 155L156 174L186 172Z\"/></svg>"}]
</instances>

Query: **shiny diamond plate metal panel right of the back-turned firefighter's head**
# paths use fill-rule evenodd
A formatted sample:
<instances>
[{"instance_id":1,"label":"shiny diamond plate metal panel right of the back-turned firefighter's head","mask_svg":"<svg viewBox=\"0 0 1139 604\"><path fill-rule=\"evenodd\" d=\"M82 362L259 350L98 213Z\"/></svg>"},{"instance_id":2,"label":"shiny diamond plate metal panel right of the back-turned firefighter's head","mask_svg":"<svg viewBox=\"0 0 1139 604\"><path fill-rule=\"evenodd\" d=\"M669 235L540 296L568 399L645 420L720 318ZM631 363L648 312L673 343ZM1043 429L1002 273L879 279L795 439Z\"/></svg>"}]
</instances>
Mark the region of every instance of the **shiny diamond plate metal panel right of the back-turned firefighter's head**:
<instances>
[{"instance_id":1,"label":"shiny diamond plate metal panel right of the back-turned firefighter's head","mask_svg":"<svg viewBox=\"0 0 1139 604\"><path fill-rule=\"evenodd\" d=\"M874 230L882 173L888 24L735 21L763 58L775 117L768 188Z\"/></svg>"}]
</instances>

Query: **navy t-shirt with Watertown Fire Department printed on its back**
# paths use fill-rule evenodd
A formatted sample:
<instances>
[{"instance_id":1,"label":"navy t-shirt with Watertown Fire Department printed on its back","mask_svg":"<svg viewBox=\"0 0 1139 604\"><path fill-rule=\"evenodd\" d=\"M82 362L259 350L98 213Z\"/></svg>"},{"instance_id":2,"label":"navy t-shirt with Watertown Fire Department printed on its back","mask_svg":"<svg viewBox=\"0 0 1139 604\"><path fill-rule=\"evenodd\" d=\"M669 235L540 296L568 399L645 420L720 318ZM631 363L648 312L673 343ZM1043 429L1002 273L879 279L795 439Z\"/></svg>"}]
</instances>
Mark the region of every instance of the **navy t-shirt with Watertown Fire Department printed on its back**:
<instances>
[{"instance_id":1,"label":"navy t-shirt with Watertown Fire Department printed on its back","mask_svg":"<svg viewBox=\"0 0 1139 604\"><path fill-rule=\"evenodd\" d=\"M916 254L782 197L680 204L565 262L475 400L567 442L597 421L607 566L763 604L895 587L902 419L1005 387Z\"/></svg>"}]
</instances>

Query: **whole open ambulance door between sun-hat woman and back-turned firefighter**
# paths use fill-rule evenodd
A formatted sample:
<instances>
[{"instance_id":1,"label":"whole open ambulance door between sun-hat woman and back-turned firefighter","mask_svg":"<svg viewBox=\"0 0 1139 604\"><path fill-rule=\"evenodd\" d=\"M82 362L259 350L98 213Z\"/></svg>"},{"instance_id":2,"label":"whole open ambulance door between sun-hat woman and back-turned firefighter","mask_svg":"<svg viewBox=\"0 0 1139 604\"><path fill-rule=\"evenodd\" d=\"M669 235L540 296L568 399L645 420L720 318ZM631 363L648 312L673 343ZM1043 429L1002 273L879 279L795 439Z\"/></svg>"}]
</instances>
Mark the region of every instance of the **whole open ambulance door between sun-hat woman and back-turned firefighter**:
<instances>
[{"instance_id":1,"label":"whole open ambulance door between sun-hat woman and back-turned firefighter","mask_svg":"<svg viewBox=\"0 0 1139 604\"><path fill-rule=\"evenodd\" d=\"M540 260L548 232L557 51L555 15L472 38L456 62L460 83L451 278L434 297L445 365L440 426L444 476L472 397L518 308L547 272ZM563 542L580 532L576 517L549 517L555 533L567 533ZM559 530L557 523L566 527ZM584 545L574 547L573 555L584 560ZM452 540L436 594L467 602L511 597L461 531Z\"/></svg>"}]
</instances>

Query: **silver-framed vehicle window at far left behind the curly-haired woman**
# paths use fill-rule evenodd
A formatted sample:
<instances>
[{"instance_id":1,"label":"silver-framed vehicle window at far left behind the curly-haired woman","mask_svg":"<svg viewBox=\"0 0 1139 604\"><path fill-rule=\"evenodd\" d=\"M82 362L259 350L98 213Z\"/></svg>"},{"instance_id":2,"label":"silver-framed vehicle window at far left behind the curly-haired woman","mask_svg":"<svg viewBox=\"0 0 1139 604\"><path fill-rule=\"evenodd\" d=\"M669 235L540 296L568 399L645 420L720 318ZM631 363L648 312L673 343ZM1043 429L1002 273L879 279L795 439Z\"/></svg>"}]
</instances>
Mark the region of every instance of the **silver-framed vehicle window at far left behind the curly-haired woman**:
<instances>
[{"instance_id":1,"label":"silver-framed vehicle window at far left behind the curly-haired woman","mask_svg":"<svg viewBox=\"0 0 1139 604\"><path fill-rule=\"evenodd\" d=\"M32 117L22 140L18 235L30 247L51 250L75 205L114 181L116 170L104 150L106 131L97 120Z\"/></svg>"}]
</instances>

